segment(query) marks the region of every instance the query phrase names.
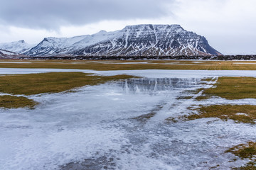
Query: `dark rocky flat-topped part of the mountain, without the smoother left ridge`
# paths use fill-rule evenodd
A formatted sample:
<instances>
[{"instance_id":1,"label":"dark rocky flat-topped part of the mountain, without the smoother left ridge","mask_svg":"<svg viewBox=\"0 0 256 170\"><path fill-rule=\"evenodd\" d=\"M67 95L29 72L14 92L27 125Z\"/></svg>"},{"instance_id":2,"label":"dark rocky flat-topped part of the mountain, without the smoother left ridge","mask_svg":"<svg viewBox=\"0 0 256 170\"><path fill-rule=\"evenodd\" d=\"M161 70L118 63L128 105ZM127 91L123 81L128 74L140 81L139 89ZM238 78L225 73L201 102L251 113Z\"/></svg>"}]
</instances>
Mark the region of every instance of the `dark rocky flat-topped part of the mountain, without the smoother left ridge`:
<instances>
[{"instance_id":1,"label":"dark rocky flat-topped part of the mountain, without the smoother left ridge","mask_svg":"<svg viewBox=\"0 0 256 170\"><path fill-rule=\"evenodd\" d=\"M72 55L221 55L220 52L208 45L206 38L188 32L179 25L136 25L127 26L120 31L124 32L122 38L99 42L73 52ZM146 35L144 35L145 33Z\"/></svg>"}]
</instances>

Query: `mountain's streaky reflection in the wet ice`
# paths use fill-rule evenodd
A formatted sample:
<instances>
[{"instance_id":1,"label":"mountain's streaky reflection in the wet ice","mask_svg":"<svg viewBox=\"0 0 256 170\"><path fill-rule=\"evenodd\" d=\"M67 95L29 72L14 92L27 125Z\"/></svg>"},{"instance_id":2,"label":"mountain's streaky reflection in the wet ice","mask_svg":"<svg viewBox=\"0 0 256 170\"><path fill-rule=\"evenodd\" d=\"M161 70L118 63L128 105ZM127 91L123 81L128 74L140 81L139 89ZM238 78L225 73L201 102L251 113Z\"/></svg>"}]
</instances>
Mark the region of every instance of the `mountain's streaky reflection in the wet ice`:
<instances>
[{"instance_id":1,"label":"mountain's streaky reflection in the wet ice","mask_svg":"<svg viewBox=\"0 0 256 170\"><path fill-rule=\"evenodd\" d=\"M119 83L124 91L135 92L156 92L171 91L174 89L196 88L200 84L201 79L129 79Z\"/></svg>"}]
</instances>

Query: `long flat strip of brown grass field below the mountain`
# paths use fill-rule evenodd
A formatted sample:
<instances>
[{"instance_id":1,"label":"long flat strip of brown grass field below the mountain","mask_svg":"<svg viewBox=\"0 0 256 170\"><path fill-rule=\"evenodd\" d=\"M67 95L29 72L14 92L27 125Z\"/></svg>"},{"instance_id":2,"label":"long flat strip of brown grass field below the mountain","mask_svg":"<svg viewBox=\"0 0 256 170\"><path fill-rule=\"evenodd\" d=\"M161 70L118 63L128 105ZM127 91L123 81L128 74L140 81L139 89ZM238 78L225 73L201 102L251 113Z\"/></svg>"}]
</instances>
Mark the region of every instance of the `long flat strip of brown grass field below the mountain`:
<instances>
[{"instance_id":1,"label":"long flat strip of brown grass field below the mountain","mask_svg":"<svg viewBox=\"0 0 256 170\"><path fill-rule=\"evenodd\" d=\"M1 63L21 62L21 63ZM22 63L31 62L31 63ZM136 64L124 64L124 63ZM141 62L141 63L137 63ZM148 62L148 63L142 63ZM240 63L240 64L238 64ZM241 64L242 63L242 64ZM203 69L203 70L256 70L256 61L187 61L187 60L0 60L0 68L52 68L52 69Z\"/></svg>"}]
</instances>

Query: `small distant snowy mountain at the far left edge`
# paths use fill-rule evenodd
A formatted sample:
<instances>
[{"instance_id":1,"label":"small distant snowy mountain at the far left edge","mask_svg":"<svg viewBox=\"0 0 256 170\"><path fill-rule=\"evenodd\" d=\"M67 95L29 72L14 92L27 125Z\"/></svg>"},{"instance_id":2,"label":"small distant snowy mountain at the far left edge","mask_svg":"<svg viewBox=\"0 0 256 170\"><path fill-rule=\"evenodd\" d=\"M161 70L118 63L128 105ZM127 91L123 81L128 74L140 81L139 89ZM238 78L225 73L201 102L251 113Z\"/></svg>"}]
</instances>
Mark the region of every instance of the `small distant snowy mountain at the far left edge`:
<instances>
[{"instance_id":1,"label":"small distant snowy mountain at the far left edge","mask_svg":"<svg viewBox=\"0 0 256 170\"><path fill-rule=\"evenodd\" d=\"M0 49L17 53L28 52L28 50L34 46L35 45L29 45L24 40L0 43Z\"/></svg>"}]
</instances>

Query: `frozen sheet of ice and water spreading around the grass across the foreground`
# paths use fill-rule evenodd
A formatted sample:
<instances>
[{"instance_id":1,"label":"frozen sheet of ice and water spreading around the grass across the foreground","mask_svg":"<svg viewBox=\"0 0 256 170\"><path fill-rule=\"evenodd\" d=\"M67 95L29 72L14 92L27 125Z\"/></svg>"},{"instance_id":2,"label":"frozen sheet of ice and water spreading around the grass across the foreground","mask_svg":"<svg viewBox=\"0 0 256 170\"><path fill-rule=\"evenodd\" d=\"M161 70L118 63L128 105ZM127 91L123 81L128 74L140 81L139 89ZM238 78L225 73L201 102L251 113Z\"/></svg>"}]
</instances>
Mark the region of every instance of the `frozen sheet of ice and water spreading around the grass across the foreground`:
<instances>
[{"instance_id":1,"label":"frozen sheet of ice and water spreading around the grass across the foreground","mask_svg":"<svg viewBox=\"0 0 256 170\"><path fill-rule=\"evenodd\" d=\"M0 69L0 74L92 72L144 77L85 86L73 93L29 96L41 103L0 109L0 169L219 169L240 166L228 147L256 140L255 125L217 118L167 122L200 104L256 100L177 99L220 76L255 71ZM211 83L201 79L210 77ZM150 116L149 116L150 115Z\"/></svg>"}]
</instances>

